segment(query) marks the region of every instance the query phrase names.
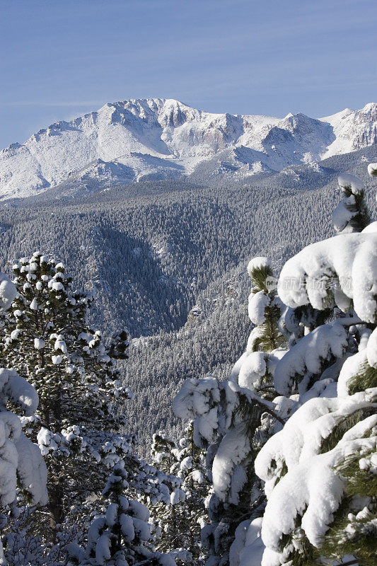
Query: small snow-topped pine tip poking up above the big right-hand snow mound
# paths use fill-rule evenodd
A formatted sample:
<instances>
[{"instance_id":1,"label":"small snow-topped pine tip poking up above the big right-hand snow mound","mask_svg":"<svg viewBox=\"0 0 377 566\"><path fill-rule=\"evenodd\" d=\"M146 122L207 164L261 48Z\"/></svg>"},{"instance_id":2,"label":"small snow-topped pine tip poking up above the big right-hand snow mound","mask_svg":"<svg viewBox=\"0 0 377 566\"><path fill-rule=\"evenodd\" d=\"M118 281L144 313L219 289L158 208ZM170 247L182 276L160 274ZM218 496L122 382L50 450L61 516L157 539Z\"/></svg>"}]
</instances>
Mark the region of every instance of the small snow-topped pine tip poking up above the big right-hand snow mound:
<instances>
[{"instance_id":1,"label":"small snow-topped pine tip poking up above the big right-hand snow mound","mask_svg":"<svg viewBox=\"0 0 377 566\"><path fill-rule=\"evenodd\" d=\"M338 185L344 197L332 213L332 223L337 233L361 232L371 221L364 200L364 185L354 175L339 175Z\"/></svg>"}]
</instances>

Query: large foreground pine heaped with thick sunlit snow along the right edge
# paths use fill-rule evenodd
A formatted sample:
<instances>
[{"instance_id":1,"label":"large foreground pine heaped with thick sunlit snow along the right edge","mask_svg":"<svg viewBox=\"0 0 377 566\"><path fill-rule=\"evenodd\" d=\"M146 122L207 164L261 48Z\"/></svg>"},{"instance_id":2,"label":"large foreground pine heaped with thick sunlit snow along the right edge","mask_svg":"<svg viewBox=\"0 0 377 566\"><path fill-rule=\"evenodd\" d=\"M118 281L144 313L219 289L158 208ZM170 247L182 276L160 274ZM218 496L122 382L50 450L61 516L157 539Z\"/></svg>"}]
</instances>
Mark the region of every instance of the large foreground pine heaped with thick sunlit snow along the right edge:
<instances>
[{"instance_id":1,"label":"large foreground pine heaped with thick sunlit snow along the right edge","mask_svg":"<svg viewBox=\"0 0 377 566\"><path fill-rule=\"evenodd\" d=\"M376 563L376 228L315 243L283 267L284 303L330 305L332 320L277 365L275 387L296 403L255 459L267 506L237 566Z\"/></svg>"}]
</instances>

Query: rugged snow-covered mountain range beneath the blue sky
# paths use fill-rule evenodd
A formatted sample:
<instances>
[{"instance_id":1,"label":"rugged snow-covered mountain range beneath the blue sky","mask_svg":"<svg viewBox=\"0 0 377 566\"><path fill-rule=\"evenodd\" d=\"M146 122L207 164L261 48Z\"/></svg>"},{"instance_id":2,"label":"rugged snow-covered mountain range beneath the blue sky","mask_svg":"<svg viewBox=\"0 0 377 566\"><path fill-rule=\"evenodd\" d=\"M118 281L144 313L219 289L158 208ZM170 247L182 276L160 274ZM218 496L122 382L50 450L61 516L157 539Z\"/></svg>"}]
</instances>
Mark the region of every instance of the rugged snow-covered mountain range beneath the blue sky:
<instances>
[{"instance_id":1,"label":"rugged snow-covered mountain range beneath the blue sky","mask_svg":"<svg viewBox=\"0 0 377 566\"><path fill-rule=\"evenodd\" d=\"M161 98L105 104L56 122L0 154L0 199L60 183L114 183L200 175L248 178L377 142L377 104L315 120L211 114Z\"/></svg>"}]
</instances>

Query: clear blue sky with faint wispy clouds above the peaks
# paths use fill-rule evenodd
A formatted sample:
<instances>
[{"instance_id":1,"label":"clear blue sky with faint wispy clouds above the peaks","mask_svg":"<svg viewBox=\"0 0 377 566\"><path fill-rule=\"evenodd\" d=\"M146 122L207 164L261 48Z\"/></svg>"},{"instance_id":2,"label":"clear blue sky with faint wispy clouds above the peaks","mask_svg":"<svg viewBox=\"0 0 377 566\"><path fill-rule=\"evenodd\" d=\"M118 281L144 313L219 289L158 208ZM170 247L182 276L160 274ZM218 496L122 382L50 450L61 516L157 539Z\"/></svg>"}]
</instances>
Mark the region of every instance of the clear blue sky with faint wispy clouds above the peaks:
<instances>
[{"instance_id":1,"label":"clear blue sky with faint wispy clouds above the peaks","mask_svg":"<svg viewBox=\"0 0 377 566\"><path fill-rule=\"evenodd\" d=\"M0 0L0 147L125 98L313 117L377 100L376 0Z\"/></svg>"}]
</instances>

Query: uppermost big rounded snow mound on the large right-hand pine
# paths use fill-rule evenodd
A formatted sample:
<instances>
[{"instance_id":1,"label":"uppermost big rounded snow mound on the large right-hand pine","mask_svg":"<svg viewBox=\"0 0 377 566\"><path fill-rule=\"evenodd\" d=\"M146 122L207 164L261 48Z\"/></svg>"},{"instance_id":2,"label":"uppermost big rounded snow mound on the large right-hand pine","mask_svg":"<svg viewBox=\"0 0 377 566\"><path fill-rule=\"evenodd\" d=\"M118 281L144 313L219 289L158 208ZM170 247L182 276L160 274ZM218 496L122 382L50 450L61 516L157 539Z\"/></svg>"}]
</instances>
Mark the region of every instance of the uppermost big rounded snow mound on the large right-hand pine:
<instances>
[{"instance_id":1,"label":"uppermost big rounded snow mound on the large right-hand pine","mask_svg":"<svg viewBox=\"0 0 377 566\"><path fill-rule=\"evenodd\" d=\"M377 233L346 233L313 243L284 265L278 293L293 308L354 307L367 323L377 322Z\"/></svg>"}]
</instances>

